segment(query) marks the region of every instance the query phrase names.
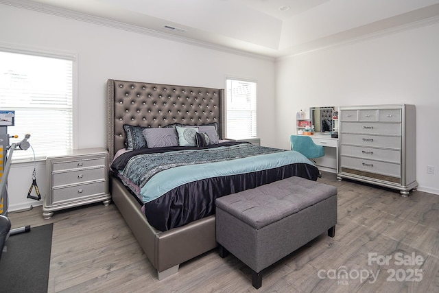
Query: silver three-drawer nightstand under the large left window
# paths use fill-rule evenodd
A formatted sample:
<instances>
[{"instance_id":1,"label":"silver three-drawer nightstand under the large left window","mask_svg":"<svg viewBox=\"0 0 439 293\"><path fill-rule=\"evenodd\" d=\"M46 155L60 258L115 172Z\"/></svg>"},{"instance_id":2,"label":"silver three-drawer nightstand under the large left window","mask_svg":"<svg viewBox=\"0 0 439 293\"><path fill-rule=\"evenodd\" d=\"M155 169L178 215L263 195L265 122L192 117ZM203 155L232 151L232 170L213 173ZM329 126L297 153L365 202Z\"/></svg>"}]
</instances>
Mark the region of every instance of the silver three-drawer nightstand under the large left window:
<instances>
[{"instance_id":1,"label":"silver three-drawer nightstand under the large left window","mask_svg":"<svg viewBox=\"0 0 439 293\"><path fill-rule=\"evenodd\" d=\"M43 217L54 211L102 201L111 202L108 192L108 152L103 148L69 150L47 156L47 195Z\"/></svg>"}]
</instances>

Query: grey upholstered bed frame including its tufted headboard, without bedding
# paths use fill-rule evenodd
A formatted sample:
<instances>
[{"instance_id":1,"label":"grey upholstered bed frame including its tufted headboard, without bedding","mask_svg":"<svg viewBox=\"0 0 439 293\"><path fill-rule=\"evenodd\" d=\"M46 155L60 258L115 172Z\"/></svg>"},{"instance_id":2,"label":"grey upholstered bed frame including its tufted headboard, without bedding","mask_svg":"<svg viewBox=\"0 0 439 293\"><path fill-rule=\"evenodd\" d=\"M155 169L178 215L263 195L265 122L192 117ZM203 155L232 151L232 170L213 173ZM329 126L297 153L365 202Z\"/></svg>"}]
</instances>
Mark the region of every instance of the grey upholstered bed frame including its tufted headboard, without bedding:
<instances>
[{"instance_id":1,"label":"grey upholstered bed frame including its tufted headboard, without bedding","mask_svg":"<svg viewBox=\"0 0 439 293\"><path fill-rule=\"evenodd\" d=\"M108 80L108 152L110 163L125 148L123 125L162 127L168 124L217 122L224 139L224 89ZM110 192L145 255L165 279L178 272L180 263L217 246L215 215L169 231L152 227L141 204L121 182L110 176Z\"/></svg>"}]
</instances>

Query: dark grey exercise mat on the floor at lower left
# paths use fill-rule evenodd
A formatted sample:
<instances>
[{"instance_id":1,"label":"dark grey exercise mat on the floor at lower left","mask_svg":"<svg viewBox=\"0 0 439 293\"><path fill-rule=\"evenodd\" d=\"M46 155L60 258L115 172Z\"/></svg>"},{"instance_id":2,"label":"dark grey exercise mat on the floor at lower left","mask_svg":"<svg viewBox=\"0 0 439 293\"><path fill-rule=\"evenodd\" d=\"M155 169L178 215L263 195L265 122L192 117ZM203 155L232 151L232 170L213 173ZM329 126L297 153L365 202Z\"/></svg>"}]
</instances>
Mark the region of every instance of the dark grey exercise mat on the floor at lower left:
<instances>
[{"instance_id":1,"label":"dark grey exercise mat on the floor at lower left","mask_svg":"<svg viewBox=\"0 0 439 293\"><path fill-rule=\"evenodd\" d=\"M31 227L6 240L0 259L0 292L47 292L53 224Z\"/></svg>"}]
</instances>

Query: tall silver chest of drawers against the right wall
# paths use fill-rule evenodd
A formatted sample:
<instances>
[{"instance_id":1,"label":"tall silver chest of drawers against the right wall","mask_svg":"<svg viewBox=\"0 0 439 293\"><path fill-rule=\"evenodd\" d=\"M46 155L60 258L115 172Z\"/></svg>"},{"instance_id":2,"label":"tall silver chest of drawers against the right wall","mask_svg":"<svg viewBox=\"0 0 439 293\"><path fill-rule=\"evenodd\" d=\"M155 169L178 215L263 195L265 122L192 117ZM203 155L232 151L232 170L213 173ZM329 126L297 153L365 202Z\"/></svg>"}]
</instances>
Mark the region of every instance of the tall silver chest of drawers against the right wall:
<instances>
[{"instance_id":1,"label":"tall silver chest of drawers against the right wall","mask_svg":"<svg viewBox=\"0 0 439 293\"><path fill-rule=\"evenodd\" d=\"M337 179L397 189L416 189L415 106L340 107Z\"/></svg>"}]
</instances>

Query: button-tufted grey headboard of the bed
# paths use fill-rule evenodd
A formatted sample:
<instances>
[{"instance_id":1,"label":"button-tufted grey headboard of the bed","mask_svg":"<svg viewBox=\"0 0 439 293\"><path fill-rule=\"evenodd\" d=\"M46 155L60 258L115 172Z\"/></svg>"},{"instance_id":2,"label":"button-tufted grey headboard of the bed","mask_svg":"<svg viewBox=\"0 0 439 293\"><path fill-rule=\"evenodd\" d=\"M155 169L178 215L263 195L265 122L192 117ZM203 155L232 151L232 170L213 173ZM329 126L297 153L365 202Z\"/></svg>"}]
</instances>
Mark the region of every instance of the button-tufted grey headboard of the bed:
<instances>
[{"instance_id":1,"label":"button-tufted grey headboard of the bed","mask_svg":"<svg viewBox=\"0 0 439 293\"><path fill-rule=\"evenodd\" d=\"M123 125L163 127L217 122L224 138L224 89L108 80L108 151L110 161L125 148Z\"/></svg>"}]
</instances>

